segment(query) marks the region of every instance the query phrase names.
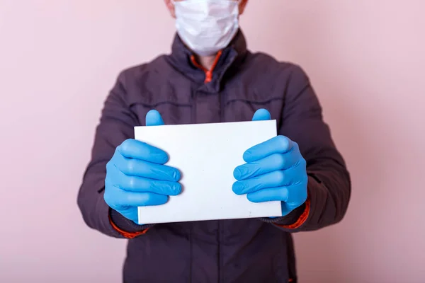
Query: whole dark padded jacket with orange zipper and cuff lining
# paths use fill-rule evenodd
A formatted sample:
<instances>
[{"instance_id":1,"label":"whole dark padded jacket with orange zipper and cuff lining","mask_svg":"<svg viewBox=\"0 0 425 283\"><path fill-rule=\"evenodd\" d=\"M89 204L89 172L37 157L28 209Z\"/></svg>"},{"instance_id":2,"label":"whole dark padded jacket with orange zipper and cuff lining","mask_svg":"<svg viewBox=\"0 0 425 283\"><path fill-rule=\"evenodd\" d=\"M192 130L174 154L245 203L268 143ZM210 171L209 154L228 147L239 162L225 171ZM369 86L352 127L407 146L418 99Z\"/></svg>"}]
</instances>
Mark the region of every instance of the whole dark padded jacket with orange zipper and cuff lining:
<instances>
[{"instance_id":1,"label":"whole dark padded jacket with orange zipper and cuff lining","mask_svg":"<svg viewBox=\"0 0 425 283\"><path fill-rule=\"evenodd\" d=\"M134 138L133 127L144 125L149 110L158 110L166 124L189 124L247 121L259 108L271 112L278 134L296 141L307 161L308 200L288 216L137 226L104 202L106 163L116 146ZM290 233L341 221L350 192L305 72L249 52L239 30L213 71L203 70L176 35L171 54L120 73L96 129L78 204L91 228L130 238L124 282L296 282Z\"/></svg>"}]
</instances>

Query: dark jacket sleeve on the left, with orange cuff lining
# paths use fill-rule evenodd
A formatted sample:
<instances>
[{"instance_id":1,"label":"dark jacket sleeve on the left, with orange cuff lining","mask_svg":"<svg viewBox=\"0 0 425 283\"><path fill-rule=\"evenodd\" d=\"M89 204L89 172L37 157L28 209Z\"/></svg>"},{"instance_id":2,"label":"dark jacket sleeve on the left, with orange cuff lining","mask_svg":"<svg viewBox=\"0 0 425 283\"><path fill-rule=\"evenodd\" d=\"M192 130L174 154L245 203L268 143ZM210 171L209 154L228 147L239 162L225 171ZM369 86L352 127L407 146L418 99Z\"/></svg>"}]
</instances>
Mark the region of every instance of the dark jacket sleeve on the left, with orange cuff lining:
<instances>
[{"instance_id":1,"label":"dark jacket sleeve on the left, with orange cuff lining","mask_svg":"<svg viewBox=\"0 0 425 283\"><path fill-rule=\"evenodd\" d=\"M108 207L103 200L106 163L112 158L118 145L125 139L134 139L134 127L138 124L137 117L125 103L125 95L125 77L121 73L103 105L91 149L91 160L77 198L86 224L116 238L134 238L146 233L152 226L135 224Z\"/></svg>"}]
</instances>

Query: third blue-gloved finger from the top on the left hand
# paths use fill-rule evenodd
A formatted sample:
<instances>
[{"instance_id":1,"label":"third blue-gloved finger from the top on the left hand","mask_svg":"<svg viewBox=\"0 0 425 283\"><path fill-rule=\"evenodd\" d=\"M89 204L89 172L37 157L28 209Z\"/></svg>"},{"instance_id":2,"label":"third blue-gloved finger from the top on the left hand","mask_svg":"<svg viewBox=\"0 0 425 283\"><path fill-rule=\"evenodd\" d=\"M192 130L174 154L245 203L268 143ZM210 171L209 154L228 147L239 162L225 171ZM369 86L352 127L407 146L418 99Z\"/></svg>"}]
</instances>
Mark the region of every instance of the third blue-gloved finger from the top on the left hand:
<instances>
[{"instance_id":1,"label":"third blue-gloved finger from the top on the left hand","mask_svg":"<svg viewBox=\"0 0 425 283\"><path fill-rule=\"evenodd\" d=\"M120 174L122 174L119 184L121 190L128 192L153 192L158 195L179 195L181 192L181 185L177 182Z\"/></svg>"}]
</instances>

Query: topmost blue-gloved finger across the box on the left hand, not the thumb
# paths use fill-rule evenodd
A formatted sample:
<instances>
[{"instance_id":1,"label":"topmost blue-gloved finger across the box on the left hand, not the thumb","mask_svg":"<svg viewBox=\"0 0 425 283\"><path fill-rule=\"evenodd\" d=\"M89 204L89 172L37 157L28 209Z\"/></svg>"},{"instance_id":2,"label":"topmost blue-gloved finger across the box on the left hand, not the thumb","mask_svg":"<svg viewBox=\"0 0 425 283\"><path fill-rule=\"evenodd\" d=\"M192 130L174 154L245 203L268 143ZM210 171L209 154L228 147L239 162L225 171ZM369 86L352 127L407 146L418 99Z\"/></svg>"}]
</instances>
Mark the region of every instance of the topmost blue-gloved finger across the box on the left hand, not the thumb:
<instances>
[{"instance_id":1,"label":"topmost blue-gloved finger across the box on the left hand, not the thumb","mask_svg":"<svg viewBox=\"0 0 425 283\"><path fill-rule=\"evenodd\" d=\"M164 164L169 160L165 151L135 139L127 139L117 147L117 151L127 158L140 159L152 163Z\"/></svg>"}]
</instances>

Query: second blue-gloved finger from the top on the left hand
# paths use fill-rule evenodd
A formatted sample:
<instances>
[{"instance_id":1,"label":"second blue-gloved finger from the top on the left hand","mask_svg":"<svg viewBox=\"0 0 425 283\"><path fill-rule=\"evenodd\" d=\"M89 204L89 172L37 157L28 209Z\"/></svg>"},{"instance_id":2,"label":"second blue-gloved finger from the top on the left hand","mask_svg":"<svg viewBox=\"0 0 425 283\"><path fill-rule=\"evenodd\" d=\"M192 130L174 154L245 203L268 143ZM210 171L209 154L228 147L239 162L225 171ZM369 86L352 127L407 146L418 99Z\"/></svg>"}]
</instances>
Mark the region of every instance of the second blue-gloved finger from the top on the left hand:
<instances>
[{"instance_id":1,"label":"second blue-gloved finger from the top on the left hand","mask_svg":"<svg viewBox=\"0 0 425 283\"><path fill-rule=\"evenodd\" d=\"M134 175L154 180L174 181L181 178L181 173L174 167L150 163L135 158L125 158L118 156L115 166L125 175Z\"/></svg>"}]
</instances>

